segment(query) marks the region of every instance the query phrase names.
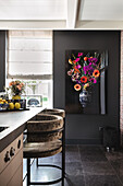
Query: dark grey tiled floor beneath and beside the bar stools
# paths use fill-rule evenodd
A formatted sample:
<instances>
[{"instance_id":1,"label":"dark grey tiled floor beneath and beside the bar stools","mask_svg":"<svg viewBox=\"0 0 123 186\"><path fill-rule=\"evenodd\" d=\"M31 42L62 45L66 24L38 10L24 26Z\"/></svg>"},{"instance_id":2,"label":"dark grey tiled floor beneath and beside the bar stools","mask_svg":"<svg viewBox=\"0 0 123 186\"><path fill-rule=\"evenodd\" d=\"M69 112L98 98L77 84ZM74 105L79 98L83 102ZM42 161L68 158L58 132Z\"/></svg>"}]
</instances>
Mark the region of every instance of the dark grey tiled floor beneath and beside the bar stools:
<instances>
[{"instance_id":1,"label":"dark grey tiled floor beneath and beside the bar stools","mask_svg":"<svg viewBox=\"0 0 123 186\"><path fill-rule=\"evenodd\" d=\"M66 178L64 186L122 186L123 152L106 152L101 147L66 146ZM61 154L40 159L39 163L61 164ZM25 172L25 163L24 163ZM32 181L51 181L59 170L32 165ZM23 184L26 186L26 181ZM61 183L52 186L61 186Z\"/></svg>"}]
</instances>

